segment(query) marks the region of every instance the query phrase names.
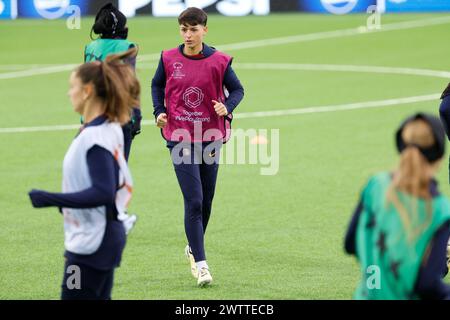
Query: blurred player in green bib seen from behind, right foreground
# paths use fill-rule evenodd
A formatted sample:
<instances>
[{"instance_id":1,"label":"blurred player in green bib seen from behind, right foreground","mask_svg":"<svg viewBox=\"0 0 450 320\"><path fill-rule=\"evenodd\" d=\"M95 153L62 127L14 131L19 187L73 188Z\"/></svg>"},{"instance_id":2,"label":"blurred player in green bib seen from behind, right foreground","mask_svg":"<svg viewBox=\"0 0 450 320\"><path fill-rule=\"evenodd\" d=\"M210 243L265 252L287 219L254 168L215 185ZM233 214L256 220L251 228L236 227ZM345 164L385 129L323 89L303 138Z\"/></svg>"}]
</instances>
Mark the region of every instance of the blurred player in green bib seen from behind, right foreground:
<instances>
[{"instance_id":1,"label":"blurred player in green bib seen from behind, right foreground","mask_svg":"<svg viewBox=\"0 0 450 320\"><path fill-rule=\"evenodd\" d=\"M398 168L364 187L345 239L362 279L356 299L449 299L442 282L450 202L434 179L445 153L439 118L409 117L396 135Z\"/></svg>"}]
</instances>

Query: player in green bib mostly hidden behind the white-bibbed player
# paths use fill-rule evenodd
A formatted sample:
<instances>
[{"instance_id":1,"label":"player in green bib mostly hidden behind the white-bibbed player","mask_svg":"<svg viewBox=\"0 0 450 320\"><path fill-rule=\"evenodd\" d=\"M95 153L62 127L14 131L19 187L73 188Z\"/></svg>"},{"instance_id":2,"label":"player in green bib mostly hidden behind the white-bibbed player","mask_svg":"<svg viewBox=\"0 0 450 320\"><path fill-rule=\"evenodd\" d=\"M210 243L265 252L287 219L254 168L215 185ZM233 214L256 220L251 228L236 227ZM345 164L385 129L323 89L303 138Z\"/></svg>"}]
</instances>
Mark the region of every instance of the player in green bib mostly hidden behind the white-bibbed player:
<instances>
[{"instance_id":1,"label":"player in green bib mostly hidden behind the white-bibbed player","mask_svg":"<svg viewBox=\"0 0 450 320\"><path fill-rule=\"evenodd\" d=\"M92 33L99 36L94 40ZM95 23L91 29L91 39L84 50L84 62L103 61L108 55L123 53L137 45L127 40L127 18L111 3L103 6L95 17ZM133 69L136 69L136 57L126 61ZM128 161L131 143L136 135L141 132L141 109L139 105L133 106L131 120L124 124L123 135L125 139L125 159Z\"/></svg>"}]
</instances>

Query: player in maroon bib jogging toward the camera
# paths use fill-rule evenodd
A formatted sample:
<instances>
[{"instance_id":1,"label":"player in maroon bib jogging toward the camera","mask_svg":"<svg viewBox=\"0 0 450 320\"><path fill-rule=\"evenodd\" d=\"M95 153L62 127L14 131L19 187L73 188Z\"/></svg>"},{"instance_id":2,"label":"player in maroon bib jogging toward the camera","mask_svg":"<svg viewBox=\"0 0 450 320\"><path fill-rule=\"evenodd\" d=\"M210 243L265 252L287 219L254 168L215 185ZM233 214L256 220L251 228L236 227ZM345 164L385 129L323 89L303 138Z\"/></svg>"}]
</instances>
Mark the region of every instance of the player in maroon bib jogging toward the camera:
<instances>
[{"instance_id":1,"label":"player in maroon bib jogging toward the camera","mask_svg":"<svg viewBox=\"0 0 450 320\"><path fill-rule=\"evenodd\" d=\"M188 8L178 17L184 43L163 51L152 81L156 123L171 151L184 198L185 254L199 286L212 282L204 234L211 214L220 146L231 113L244 96L232 58L203 43L207 15ZM229 92L224 93L224 87Z\"/></svg>"}]
</instances>

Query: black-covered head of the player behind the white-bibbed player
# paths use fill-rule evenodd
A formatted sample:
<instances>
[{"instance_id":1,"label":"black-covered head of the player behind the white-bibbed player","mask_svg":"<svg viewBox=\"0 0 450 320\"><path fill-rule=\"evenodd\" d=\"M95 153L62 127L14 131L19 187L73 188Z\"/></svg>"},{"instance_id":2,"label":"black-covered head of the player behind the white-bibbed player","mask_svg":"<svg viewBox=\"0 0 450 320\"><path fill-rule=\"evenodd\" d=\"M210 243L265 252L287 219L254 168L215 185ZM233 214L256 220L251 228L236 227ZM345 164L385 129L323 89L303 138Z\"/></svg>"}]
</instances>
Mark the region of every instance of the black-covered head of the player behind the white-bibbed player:
<instances>
[{"instance_id":1,"label":"black-covered head of the player behind the white-bibbed player","mask_svg":"<svg viewBox=\"0 0 450 320\"><path fill-rule=\"evenodd\" d=\"M95 16L92 33L100 35L102 39L127 39L127 17L119 11L111 2L103 6Z\"/></svg>"}]
</instances>

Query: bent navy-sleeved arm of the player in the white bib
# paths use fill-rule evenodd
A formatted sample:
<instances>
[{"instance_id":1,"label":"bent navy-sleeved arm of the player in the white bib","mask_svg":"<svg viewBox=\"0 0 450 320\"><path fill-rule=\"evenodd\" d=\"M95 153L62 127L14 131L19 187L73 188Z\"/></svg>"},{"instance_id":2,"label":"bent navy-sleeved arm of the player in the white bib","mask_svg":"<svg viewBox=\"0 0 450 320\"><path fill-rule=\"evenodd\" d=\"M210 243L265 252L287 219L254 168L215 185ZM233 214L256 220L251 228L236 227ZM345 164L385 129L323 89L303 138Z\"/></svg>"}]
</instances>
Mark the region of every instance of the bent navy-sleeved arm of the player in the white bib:
<instances>
[{"instance_id":1,"label":"bent navy-sleeved arm of the player in the white bib","mask_svg":"<svg viewBox=\"0 0 450 320\"><path fill-rule=\"evenodd\" d=\"M51 193L32 190L29 195L35 208L95 208L103 205L114 205L118 165L113 155L106 149L94 146L87 153L87 164L92 186L74 193Z\"/></svg>"}]
</instances>

